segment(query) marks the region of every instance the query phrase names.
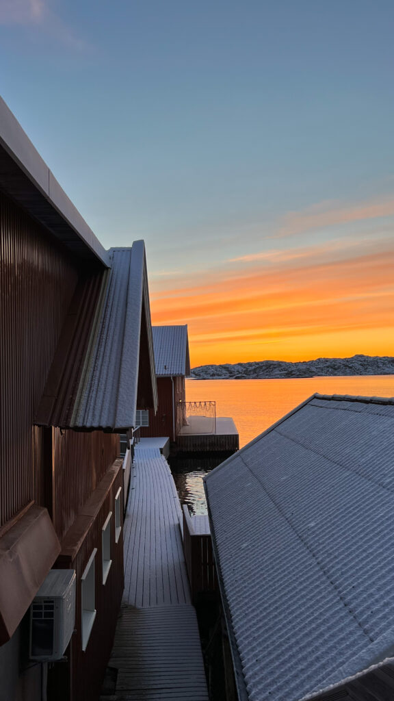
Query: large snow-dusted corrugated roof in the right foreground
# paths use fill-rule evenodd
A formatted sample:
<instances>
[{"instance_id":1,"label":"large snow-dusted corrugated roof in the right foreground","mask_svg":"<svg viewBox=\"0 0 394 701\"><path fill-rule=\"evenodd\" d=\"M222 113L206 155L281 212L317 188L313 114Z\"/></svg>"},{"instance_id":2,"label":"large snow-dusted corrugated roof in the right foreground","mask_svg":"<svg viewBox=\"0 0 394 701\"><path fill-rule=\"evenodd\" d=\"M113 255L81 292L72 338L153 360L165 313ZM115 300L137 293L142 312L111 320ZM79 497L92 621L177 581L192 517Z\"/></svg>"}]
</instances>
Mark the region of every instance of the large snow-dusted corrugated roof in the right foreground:
<instances>
[{"instance_id":1,"label":"large snow-dusted corrugated roof in the right foreground","mask_svg":"<svg viewBox=\"0 0 394 701\"><path fill-rule=\"evenodd\" d=\"M394 400L314 395L205 477L240 697L394 655Z\"/></svg>"}]
</instances>

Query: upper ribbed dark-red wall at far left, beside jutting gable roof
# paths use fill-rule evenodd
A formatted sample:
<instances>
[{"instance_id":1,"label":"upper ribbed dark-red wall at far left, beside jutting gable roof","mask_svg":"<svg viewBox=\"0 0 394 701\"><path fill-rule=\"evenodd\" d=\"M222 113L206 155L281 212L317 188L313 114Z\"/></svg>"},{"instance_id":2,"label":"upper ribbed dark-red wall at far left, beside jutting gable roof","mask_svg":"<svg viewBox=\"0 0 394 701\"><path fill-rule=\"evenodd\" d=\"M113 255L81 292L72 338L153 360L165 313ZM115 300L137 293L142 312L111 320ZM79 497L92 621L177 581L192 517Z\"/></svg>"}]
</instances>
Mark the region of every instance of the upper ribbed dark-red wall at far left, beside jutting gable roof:
<instances>
[{"instance_id":1,"label":"upper ribbed dark-red wall at far left, beside jutting gable roof","mask_svg":"<svg viewBox=\"0 0 394 701\"><path fill-rule=\"evenodd\" d=\"M33 426L78 280L69 254L0 192L0 525L43 504L42 430Z\"/></svg>"}]
</instances>

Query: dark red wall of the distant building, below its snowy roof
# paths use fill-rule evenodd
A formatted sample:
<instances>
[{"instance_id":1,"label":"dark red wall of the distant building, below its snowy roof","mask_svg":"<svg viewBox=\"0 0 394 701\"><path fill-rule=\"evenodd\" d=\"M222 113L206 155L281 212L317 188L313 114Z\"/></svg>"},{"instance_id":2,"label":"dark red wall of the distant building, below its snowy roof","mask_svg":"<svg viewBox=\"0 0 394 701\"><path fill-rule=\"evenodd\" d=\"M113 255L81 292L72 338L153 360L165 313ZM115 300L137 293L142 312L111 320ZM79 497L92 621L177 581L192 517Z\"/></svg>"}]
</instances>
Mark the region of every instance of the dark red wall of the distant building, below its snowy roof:
<instances>
[{"instance_id":1,"label":"dark red wall of the distant building, below its snowy roof","mask_svg":"<svg viewBox=\"0 0 394 701\"><path fill-rule=\"evenodd\" d=\"M172 418L172 379L174 381L175 435L174 422ZM184 402L185 400L185 385L184 377L178 376L172 379L170 377L158 377L157 414L155 416L152 409L149 409L149 428L140 429L140 435L142 437L169 436L170 440L176 440L179 429L182 426L179 402Z\"/></svg>"}]
</instances>

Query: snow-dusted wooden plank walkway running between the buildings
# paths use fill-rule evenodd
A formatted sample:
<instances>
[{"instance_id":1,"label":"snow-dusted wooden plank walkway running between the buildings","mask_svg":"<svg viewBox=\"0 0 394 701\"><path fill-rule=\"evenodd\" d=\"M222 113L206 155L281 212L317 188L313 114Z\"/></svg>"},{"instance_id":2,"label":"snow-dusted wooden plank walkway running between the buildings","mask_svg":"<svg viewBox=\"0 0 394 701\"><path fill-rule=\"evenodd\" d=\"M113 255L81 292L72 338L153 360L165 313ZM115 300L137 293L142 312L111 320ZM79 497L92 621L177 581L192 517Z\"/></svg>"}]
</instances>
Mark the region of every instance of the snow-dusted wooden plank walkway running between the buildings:
<instances>
[{"instance_id":1,"label":"snow-dusted wooden plank walkway running between the buildings","mask_svg":"<svg viewBox=\"0 0 394 701\"><path fill-rule=\"evenodd\" d=\"M174 480L157 448L137 447L123 529L125 590L102 701L208 701ZM108 694L108 692L107 692Z\"/></svg>"}]
</instances>

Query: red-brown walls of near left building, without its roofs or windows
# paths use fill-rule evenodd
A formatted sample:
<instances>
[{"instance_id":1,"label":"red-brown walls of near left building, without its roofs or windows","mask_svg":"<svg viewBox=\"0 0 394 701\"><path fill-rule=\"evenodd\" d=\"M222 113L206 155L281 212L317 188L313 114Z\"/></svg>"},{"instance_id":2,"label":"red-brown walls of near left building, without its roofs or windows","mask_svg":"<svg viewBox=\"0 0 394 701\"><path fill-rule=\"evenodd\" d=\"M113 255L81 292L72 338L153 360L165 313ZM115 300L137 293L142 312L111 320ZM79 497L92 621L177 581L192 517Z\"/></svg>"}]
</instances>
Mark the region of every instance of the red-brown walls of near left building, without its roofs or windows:
<instances>
[{"instance_id":1,"label":"red-brown walls of near left building, without its roofs or windows","mask_svg":"<svg viewBox=\"0 0 394 701\"><path fill-rule=\"evenodd\" d=\"M0 233L0 526L34 500L48 508L62 546L70 533L74 537L79 533L74 558L57 563L76 569L77 620L71 657L69 662L55 665L57 672L50 688L56 700L62 695L68 700L71 693L72 701L88 701L100 695L123 591L123 545L122 538L114 545L114 518L113 562L107 583L102 585L100 580L102 524L108 512L114 512L114 496L123 484L121 461L114 479L111 477L119 438L100 431L41 428L34 426L34 418L69 305L79 280L90 275L90 264L84 261L82 269L71 253L3 193ZM97 274L97 268L94 272ZM92 496L96 503L97 498L101 500L100 509L94 512L93 521L88 517L90 526L85 533L83 510ZM93 547L97 547L97 617L83 653L80 578ZM14 657L22 655L18 646L14 647ZM0 658L0 662L6 660L3 648ZM20 669L20 686L24 686L27 677L23 676L21 659L14 661ZM21 698L25 697L22 694Z\"/></svg>"}]
</instances>

